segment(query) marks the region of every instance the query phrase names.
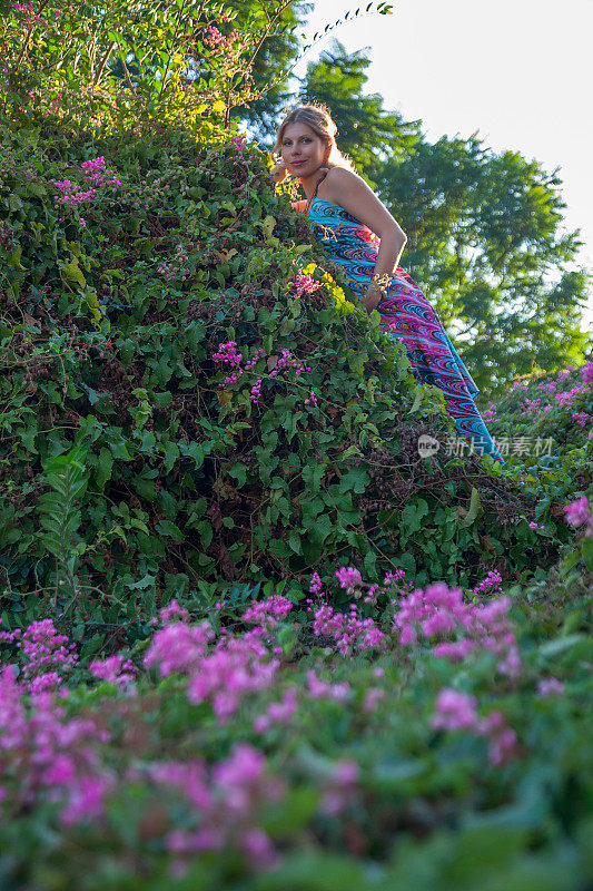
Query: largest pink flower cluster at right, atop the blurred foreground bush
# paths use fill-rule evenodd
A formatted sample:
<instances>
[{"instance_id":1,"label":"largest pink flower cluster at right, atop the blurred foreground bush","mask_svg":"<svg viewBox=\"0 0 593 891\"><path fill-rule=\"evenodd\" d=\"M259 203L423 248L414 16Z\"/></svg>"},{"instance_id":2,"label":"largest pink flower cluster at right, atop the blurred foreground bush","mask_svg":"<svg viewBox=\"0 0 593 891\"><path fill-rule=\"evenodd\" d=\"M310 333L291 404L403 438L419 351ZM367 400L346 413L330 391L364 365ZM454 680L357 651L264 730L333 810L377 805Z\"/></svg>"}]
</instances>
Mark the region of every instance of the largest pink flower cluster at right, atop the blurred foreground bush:
<instances>
[{"instance_id":1,"label":"largest pink flower cluster at right, atop the blurred foreground bush","mask_svg":"<svg viewBox=\"0 0 593 891\"><path fill-rule=\"evenodd\" d=\"M461 588L445 582L428 585L402 598L394 614L394 625L403 646L417 646L418 635L434 645L435 656L458 662L478 649L494 653L498 672L516 677L518 648L508 619L511 601L500 597L488 604L465 604ZM448 639L444 639L448 638Z\"/></svg>"}]
</instances>

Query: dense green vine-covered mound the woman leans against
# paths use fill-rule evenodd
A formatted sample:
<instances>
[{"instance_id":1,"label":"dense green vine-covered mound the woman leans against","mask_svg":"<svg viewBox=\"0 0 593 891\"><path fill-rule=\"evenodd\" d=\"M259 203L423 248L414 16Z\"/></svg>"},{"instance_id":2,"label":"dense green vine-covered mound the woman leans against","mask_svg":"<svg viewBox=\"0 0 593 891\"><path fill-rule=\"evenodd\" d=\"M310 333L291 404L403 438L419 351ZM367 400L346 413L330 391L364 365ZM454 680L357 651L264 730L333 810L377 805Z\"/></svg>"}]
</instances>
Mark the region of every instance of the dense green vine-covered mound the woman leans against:
<instances>
[{"instance_id":1,"label":"dense green vine-covered mound the woman leans against","mask_svg":"<svg viewBox=\"0 0 593 891\"><path fill-rule=\"evenodd\" d=\"M199 603L204 582L296 590L334 562L421 585L532 568L542 481L447 456L439 391L355 306L257 148L7 137L13 609L36 618L53 586L71 619L88 598L95 619L132 623L172 594ZM433 458L423 433L443 443ZM569 535L550 520L543 566Z\"/></svg>"}]
</instances>

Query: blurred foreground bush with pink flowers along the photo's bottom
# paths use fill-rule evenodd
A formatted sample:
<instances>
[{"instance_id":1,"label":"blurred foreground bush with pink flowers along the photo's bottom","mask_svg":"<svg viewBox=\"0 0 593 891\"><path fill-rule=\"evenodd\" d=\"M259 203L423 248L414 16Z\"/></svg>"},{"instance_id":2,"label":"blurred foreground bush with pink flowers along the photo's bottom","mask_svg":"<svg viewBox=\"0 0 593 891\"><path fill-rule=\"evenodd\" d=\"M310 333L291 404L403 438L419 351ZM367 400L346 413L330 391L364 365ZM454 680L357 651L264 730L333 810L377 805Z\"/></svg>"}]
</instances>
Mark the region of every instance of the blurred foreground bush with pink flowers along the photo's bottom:
<instances>
[{"instance_id":1,"label":"blurred foreground bush with pink flowers along the photo's bottom","mask_svg":"<svg viewBox=\"0 0 593 891\"><path fill-rule=\"evenodd\" d=\"M279 891L322 888L326 870L339 887L366 891L372 866L376 881L403 890L414 875L412 852L433 874L445 850L452 866L466 863L467 888L484 875L510 882L525 858L537 875L552 877L550 888L585 888L590 640L574 624L566 637L562 616L554 625L535 613L525 625L528 593L511 605L490 589L411 591L396 571L378 586L384 610L365 619L360 610L376 610L377 599L364 593L373 599L377 585L354 567L335 579L343 593L358 593L336 626L350 635L347 646L335 635L336 614L317 604L327 598L318 576L308 610L281 590L241 610L218 600L198 619L171 600L149 640L87 665L51 623L24 629L32 649L19 647L18 635L4 637L7 880L45 887L51 872L62 887L90 891L115 889L113 873L119 887L137 889L151 887L148 875L170 889L199 875L213 888ZM356 628L348 618L359 620ZM474 643L461 662L437 653L453 624ZM484 662L498 636L516 653L512 672ZM328 648L334 637L338 646ZM57 653L61 685L31 689L30 666L43 673ZM503 655L497 645L494 653ZM72 670L77 679L66 681ZM517 835L530 789L537 807ZM452 832L462 817L467 829ZM465 861L480 839L471 826L484 822L488 859ZM399 880L393 841L403 833ZM567 848L573 866L563 884ZM146 872L137 871L139 859ZM441 887L453 891L455 874Z\"/></svg>"}]
</instances>

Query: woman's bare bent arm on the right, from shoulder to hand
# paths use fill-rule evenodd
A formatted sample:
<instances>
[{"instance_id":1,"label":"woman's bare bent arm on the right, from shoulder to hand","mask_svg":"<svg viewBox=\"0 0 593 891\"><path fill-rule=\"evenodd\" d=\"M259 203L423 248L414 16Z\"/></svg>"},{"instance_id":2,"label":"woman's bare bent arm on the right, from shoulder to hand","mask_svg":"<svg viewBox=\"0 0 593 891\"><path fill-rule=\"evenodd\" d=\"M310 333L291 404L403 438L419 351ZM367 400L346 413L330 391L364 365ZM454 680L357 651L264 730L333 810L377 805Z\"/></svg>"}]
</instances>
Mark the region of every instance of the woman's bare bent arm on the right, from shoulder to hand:
<instances>
[{"instance_id":1,"label":"woman's bare bent arm on the right, from shoulder to hand","mask_svg":"<svg viewBox=\"0 0 593 891\"><path fill-rule=\"evenodd\" d=\"M364 179L342 167L333 167L320 187L327 200L344 207L378 235L380 245L374 277L380 280L391 276L399 263L407 236L385 205ZM369 313L377 307L380 295L380 287L372 282L363 301Z\"/></svg>"}]
</instances>

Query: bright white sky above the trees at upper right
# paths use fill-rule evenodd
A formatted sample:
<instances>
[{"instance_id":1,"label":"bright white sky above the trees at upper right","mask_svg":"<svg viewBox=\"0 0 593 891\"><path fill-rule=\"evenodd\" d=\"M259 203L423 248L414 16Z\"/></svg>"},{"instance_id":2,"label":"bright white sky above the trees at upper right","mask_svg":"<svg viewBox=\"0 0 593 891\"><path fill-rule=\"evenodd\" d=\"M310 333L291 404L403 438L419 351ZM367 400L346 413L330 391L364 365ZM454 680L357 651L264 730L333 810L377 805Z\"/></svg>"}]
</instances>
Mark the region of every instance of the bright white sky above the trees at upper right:
<instances>
[{"instance_id":1,"label":"bright white sky above the trees at upper right","mask_svg":"<svg viewBox=\"0 0 593 891\"><path fill-rule=\"evenodd\" d=\"M358 6L367 0L316 2L306 33ZM368 48L367 91L422 119L429 141L477 131L486 148L560 167L565 225L581 229L580 265L593 274L592 35L593 0L396 0L392 16L337 28L296 74L332 37L349 52ZM585 323L593 331L593 282Z\"/></svg>"}]
</instances>

